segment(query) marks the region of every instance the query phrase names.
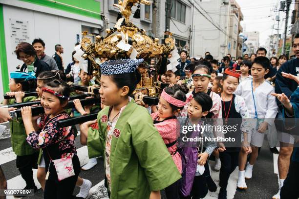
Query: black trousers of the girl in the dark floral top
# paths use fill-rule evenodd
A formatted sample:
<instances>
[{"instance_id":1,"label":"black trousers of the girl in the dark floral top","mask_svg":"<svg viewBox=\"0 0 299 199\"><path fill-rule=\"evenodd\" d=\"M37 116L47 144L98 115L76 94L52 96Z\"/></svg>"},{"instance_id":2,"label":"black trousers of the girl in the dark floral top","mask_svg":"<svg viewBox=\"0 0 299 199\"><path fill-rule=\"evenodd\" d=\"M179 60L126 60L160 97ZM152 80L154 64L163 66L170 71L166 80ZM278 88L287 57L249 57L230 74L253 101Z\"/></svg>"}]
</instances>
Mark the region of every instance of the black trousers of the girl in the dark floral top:
<instances>
[{"instance_id":1,"label":"black trousers of the girl in the dark floral top","mask_svg":"<svg viewBox=\"0 0 299 199\"><path fill-rule=\"evenodd\" d=\"M54 166L54 165L53 165ZM56 178L46 180L44 187L44 199L72 199L73 191L80 173L80 162L78 156L73 157L73 168L75 176L58 181L57 173L50 172L50 175L56 175Z\"/></svg>"}]
</instances>

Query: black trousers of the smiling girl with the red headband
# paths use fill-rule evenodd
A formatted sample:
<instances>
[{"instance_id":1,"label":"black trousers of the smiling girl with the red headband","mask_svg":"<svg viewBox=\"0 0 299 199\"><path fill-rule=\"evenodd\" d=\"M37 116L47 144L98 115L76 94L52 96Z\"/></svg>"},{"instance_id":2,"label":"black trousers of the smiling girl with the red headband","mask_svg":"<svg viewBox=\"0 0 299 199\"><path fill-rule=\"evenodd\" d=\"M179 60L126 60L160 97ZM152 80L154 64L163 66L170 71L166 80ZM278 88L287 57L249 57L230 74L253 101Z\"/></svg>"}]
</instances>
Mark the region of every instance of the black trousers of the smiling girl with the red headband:
<instances>
[{"instance_id":1,"label":"black trousers of the smiling girl with the red headband","mask_svg":"<svg viewBox=\"0 0 299 199\"><path fill-rule=\"evenodd\" d=\"M228 179L238 165L239 152L224 151L219 153L221 168L219 173L219 185L226 190Z\"/></svg>"}]
</instances>

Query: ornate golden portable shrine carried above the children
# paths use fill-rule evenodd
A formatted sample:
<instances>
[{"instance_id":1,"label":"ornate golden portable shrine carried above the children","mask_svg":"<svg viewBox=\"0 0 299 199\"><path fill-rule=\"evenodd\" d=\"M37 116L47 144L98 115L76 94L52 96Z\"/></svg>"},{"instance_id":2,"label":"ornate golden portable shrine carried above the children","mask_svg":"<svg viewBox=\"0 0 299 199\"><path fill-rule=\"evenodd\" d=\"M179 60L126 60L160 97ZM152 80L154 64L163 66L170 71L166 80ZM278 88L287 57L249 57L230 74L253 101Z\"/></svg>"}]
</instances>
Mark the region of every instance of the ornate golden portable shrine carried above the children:
<instances>
[{"instance_id":1,"label":"ornate golden portable shrine carried above the children","mask_svg":"<svg viewBox=\"0 0 299 199\"><path fill-rule=\"evenodd\" d=\"M146 73L146 69L142 66L138 67L138 70L142 75L142 79L133 93L142 93L143 95L148 95L150 97L157 97L161 87L157 86L154 80L157 80L158 73L165 73L168 55L171 53L177 53L177 50L170 32L165 33L167 35L165 44L161 44L159 43L158 38L150 38L146 35L144 29L138 28L129 21L131 8L137 3L137 7L139 9L140 3L149 5L151 1L119 0L118 4L114 4L113 6L119 8L119 16L121 18L117 20L117 23L113 28L106 30L106 36L96 36L94 43L91 42L90 38L85 37L87 32L84 32L84 37L81 41L81 47L84 53L81 56L83 59L87 58L90 60L93 70L92 74L96 76L97 82L100 82L101 78L99 66L101 58L107 58L109 60L128 58L158 59L159 62L155 66L156 74L153 78L145 78L144 74ZM138 9L135 12L135 15L138 13Z\"/></svg>"}]
</instances>

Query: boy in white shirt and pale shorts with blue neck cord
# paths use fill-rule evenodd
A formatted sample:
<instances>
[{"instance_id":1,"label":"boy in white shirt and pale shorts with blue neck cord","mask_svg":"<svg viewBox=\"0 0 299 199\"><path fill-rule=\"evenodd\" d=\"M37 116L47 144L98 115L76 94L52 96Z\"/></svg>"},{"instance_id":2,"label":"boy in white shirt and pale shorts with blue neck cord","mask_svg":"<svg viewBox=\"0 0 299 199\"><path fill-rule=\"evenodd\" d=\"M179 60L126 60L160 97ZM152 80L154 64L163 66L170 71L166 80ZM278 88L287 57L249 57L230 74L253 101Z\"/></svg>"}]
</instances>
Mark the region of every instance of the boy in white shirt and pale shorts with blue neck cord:
<instances>
[{"instance_id":1,"label":"boy in white shirt and pale shorts with blue neck cord","mask_svg":"<svg viewBox=\"0 0 299 199\"><path fill-rule=\"evenodd\" d=\"M257 57L251 67L253 80L242 81L235 91L235 95L241 96L249 110L250 118L255 118L252 137L248 138L251 143L252 153L250 161L245 164L247 154L241 150L239 155L239 179L245 182L252 178L252 170L258 156L258 147L263 144L265 133L274 127L274 119L278 112L276 99L271 93L274 88L264 80L265 74L269 72L270 61L266 57ZM275 133L272 132L271 133ZM269 139L269 137L268 137ZM239 183L238 183L239 184Z\"/></svg>"}]
</instances>

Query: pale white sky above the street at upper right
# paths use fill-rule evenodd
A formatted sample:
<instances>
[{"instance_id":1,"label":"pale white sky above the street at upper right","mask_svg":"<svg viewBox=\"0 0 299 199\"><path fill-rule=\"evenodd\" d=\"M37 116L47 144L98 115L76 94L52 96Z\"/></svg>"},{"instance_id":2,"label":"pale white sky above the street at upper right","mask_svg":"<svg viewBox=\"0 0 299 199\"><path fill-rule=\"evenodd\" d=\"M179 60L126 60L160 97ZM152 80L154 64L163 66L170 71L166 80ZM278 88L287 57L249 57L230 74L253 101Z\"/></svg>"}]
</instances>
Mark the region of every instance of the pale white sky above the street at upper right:
<instances>
[{"instance_id":1,"label":"pale white sky above the street at upper right","mask_svg":"<svg viewBox=\"0 0 299 199\"><path fill-rule=\"evenodd\" d=\"M277 21L275 20L278 12L275 12L275 7L280 0L236 0L241 7L244 20L241 21L243 31L259 32L259 44L265 45L269 35L277 34ZM280 5L278 5L279 7ZM294 8L294 0L291 4L291 10ZM278 9L277 9L278 10ZM291 12L289 13L289 17ZM285 13L279 12L279 34L284 32ZM283 21L282 21L283 19ZM289 18L290 22L290 18ZM275 25L274 25L275 24ZM274 28L273 29L273 25ZM290 25L290 23L289 23Z\"/></svg>"}]
</instances>

